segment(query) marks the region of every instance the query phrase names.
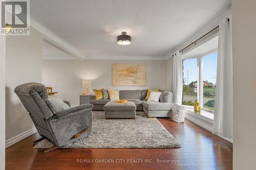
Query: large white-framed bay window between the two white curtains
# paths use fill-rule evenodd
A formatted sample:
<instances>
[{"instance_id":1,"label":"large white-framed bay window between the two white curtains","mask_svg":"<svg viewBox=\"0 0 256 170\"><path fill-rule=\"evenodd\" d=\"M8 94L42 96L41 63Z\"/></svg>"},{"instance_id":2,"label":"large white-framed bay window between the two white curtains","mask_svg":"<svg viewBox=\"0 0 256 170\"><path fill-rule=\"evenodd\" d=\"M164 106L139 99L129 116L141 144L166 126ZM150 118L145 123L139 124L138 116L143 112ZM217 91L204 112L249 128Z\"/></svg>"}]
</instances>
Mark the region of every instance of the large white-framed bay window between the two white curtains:
<instances>
[{"instance_id":1,"label":"large white-framed bay window between the two white curtains","mask_svg":"<svg viewBox=\"0 0 256 170\"><path fill-rule=\"evenodd\" d=\"M183 58L182 104L200 107L213 112L217 76L218 36L185 53Z\"/></svg>"}]
</instances>

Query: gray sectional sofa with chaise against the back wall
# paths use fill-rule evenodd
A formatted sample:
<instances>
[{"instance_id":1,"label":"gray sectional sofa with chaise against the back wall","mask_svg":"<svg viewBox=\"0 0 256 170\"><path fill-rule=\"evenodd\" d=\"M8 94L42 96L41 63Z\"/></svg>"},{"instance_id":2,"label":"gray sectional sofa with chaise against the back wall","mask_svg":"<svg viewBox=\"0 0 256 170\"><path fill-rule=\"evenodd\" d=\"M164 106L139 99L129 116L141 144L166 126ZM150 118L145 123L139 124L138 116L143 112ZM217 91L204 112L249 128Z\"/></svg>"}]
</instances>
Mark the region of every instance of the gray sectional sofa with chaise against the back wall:
<instances>
[{"instance_id":1,"label":"gray sectional sofa with chaise against the back wall","mask_svg":"<svg viewBox=\"0 0 256 170\"><path fill-rule=\"evenodd\" d=\"M169 117L172 116L173 93L160 90L162 92L159 102L146 102L147 90L120 90L120 100L126 99L136 105L136 111L144 111L148 117ZM104 110L104 105L110 99L95 100L95 95L91 95L90 104L94 105L93 110Z\"/></svg>"}]
</instances>

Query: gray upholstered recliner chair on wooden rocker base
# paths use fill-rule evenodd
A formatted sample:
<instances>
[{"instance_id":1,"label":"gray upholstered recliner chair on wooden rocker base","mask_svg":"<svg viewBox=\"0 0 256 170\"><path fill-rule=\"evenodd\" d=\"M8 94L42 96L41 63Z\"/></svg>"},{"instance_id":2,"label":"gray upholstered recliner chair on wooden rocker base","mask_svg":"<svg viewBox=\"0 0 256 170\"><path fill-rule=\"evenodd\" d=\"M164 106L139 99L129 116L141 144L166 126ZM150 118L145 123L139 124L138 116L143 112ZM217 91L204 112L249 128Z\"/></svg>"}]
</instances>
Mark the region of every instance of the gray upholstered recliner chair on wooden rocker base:
<instances>
[{"instance_id":1,"label":"gray upholstered recliner chair on wooden rocker base","mask_svg":"<svg viewBox=\"0 0 256 170\"><path fill-rule=\"evenodd\" d=\"M29 112L41 139L47 138L55 146L45 153L86 137L92 130L93 105L85 104L56 112L48 100L46 86L40 83L26 83L15 88L14 92Z\"/></svg>"}]
</instances>

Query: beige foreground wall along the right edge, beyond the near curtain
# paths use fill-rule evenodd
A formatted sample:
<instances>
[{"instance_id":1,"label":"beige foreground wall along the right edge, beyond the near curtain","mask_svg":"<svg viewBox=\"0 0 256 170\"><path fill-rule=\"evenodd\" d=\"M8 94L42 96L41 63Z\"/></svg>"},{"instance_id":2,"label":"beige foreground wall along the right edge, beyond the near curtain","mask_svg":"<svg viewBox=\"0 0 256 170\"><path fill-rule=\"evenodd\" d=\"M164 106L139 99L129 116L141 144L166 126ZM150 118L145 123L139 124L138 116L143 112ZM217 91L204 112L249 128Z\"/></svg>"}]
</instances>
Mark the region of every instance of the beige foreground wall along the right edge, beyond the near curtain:
<instances>
[{"instance_id":1,"label":"beige foreground wall along the right edge, beyond the near curtain","mask_svg":"<svg viewBox=\"0 0 256 170\"><path fill-rule=\"evenodd\" d=\"M233 169L255 169L256 1L232 0Z\"/></svg>"}]
</instances>

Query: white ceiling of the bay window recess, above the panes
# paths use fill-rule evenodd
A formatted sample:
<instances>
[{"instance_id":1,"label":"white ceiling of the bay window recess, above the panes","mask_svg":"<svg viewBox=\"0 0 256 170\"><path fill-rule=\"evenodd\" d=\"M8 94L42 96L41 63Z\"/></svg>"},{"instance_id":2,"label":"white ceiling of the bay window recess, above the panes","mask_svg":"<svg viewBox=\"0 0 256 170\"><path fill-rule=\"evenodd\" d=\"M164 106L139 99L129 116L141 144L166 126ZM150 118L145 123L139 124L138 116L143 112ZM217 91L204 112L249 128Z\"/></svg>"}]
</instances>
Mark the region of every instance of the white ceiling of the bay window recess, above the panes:
<instances>
[{"instance_id":1,"label":"white ceiling of the bay window recess, above the panes","mask_svg":"<svg viewBox=\"0 0 256 170\"><path fill-rule=\"evenodd\" d=\"M182 58L183 59L195 58L195 57L204 56L211 52L216 51L218 49L218 38L219 36L216 36L208 40L207 42L203 43L202 45L197 46L193 50L182 55Z\"/></svg>"}]
</instances>

